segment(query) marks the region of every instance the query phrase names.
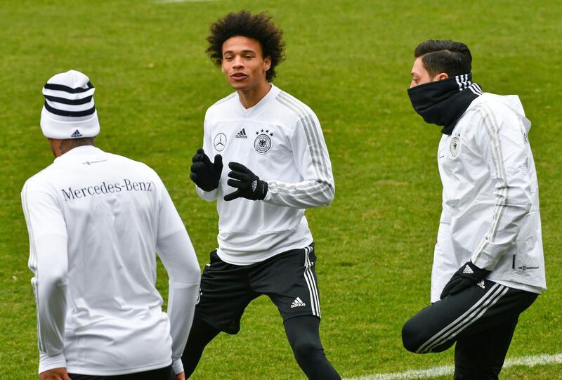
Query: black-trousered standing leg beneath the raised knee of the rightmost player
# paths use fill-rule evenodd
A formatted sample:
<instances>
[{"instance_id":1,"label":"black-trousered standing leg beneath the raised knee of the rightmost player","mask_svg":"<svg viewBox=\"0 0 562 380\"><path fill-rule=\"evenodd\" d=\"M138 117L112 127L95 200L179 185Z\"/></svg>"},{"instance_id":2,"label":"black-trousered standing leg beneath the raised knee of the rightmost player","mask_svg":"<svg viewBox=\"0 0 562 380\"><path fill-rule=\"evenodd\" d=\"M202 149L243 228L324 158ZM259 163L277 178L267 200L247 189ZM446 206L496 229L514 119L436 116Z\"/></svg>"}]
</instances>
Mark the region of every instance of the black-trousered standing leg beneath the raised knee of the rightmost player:
<instances>
[{"instance_id":1,"label":"black-trousered standing leg beneath the raised knee of the rightmost player","mask_svg":"<svg viewBox=\"0 0 562 380\"><path fill-rule=\"evenodd\" d=\"M517 325L518 316L481 332L461 334L455 345L455 380L495 380Z\"/></svg>"}]
</instances>

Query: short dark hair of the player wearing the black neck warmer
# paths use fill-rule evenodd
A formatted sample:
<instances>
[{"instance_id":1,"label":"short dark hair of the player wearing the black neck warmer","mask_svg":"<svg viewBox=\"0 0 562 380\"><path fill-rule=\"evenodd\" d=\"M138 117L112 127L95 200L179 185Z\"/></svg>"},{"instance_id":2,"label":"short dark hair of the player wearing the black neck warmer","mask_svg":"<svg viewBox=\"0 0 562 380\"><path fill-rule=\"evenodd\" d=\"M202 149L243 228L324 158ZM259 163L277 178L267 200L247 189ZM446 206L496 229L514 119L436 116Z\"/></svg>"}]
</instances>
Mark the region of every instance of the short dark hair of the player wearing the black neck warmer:
<instances>
[{"instance_id":1,"label":"short dark hair of the player wearing the black neck warmer","mask_svg":"<svg viewBox=\"0 0 562 380\"><path fill-rule=\"evenodd\" d=\"M469 47L462 42L450 39L428 39L419 44L414 51L416 58L421 58L431 77L441 72L449 77L471 72L472 55Z\"/></svg>"}]
</instances>

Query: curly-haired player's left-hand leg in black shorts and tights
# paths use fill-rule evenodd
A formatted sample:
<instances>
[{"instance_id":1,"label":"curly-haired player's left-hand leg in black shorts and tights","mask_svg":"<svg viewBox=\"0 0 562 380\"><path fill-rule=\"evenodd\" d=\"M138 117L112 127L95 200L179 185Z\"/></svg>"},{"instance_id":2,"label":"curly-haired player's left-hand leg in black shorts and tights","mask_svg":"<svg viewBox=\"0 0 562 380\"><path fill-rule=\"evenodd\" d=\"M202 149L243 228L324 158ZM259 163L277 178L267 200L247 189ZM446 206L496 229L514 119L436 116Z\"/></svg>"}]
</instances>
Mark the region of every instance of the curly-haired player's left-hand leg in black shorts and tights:
<instances>
[{"instance_id":1,"label":"curly-haired player's left-hand leg in black shorts and tights","mask_svg":"<svg viewBox=\"0 0 562 380\"><path fill-rule=\"evenodd\" d=\"M200 297L181 361L185 377L190 376L199 363L207 344L219 332L237 334L240 318L248 303L259 296L249 287L248 268L225 263L216 251L201 275Z\"/></svg>"}]
</instances>

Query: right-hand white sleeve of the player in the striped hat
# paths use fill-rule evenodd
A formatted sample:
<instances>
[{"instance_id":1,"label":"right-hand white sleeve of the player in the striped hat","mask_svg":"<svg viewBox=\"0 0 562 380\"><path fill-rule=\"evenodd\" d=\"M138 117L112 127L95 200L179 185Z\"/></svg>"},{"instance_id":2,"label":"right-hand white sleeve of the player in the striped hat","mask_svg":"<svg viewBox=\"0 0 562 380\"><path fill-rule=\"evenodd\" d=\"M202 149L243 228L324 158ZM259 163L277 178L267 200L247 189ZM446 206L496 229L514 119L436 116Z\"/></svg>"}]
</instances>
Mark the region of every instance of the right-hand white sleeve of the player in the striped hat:
<instances>
[{"instance_id":1,"label":"right-hand white sleeve of the player in the striped hat","mask_svg":"<svg viewBox=\"0 0 562 380\"><path fill-rule=\"evenodd\" d=\"M174 372L183 372L181 355L188 341L199 292L200 268L187 230L162 185L156 246L169 277L168 315Z\"/></svg>"}]
</instances>

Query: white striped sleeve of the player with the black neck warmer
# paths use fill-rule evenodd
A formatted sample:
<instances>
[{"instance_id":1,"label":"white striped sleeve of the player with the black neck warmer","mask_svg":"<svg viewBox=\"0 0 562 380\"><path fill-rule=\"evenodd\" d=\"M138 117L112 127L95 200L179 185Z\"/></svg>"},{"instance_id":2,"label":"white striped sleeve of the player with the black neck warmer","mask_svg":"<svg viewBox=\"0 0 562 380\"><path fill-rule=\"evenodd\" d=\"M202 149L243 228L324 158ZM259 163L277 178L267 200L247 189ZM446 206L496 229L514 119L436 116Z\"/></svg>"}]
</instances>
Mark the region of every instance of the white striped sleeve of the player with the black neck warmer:
<instances>
[{"instance_id":1,"label":"white striped sleeve of the player with the black neck warmer","mask_svg":"<svg viewBox=\"0 0 562 380\"><path fill-rule=\"evenodd\" d=\"M490 229L473 253L479 268L493 270L504 253L516 242L523 217L529 213L532 196L528 140L517 114L494 112L483 104L477 143L495 183L495 204L490 205Z\"/></svg>"}]
</instances>

